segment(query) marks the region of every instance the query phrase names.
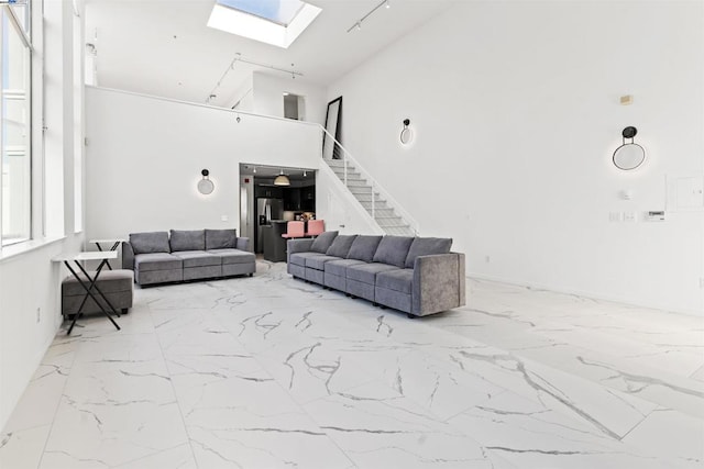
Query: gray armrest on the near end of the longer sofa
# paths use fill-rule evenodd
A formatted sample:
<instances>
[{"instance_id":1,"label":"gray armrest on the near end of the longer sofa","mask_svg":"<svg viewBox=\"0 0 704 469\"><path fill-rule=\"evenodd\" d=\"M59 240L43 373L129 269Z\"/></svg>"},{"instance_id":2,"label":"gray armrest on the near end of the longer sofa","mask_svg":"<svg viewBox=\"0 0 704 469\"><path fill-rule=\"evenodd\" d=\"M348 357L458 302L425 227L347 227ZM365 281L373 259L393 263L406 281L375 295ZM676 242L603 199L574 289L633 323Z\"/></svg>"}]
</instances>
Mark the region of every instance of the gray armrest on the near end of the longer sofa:
<instances>
[{"instance_id":1,"label":"gray armrest on the near end of the longer sofa","mask_svg":"<svg viewBox=\"0 0 704 469\"><path fill-rule=\"evenodd\" d=\"M411 313L439 313L466 303L464 254L418 256L414 264Z\"/></svg>"}]
</instances>

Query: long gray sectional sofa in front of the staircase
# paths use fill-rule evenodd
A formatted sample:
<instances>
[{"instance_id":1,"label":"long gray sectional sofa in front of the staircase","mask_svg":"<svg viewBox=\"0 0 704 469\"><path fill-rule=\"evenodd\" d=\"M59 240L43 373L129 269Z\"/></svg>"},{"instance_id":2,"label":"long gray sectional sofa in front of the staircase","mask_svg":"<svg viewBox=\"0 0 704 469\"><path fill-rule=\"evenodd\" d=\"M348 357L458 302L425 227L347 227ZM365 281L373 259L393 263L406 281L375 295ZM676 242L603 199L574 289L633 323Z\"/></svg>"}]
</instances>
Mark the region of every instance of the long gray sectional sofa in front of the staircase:
<instances>
[{"instance_id":1,"label":"long gray sectional sofa in front of the staircase","mask_svg":"<svg viewBox=\"0 0 704 469\"><path fill-rule=\"evenodd\" d=\"M451 246L449 238L326 232L289 239L287 270L409 317L425 316L465 304L464 254Z\"/></svg>"}]
</instances>

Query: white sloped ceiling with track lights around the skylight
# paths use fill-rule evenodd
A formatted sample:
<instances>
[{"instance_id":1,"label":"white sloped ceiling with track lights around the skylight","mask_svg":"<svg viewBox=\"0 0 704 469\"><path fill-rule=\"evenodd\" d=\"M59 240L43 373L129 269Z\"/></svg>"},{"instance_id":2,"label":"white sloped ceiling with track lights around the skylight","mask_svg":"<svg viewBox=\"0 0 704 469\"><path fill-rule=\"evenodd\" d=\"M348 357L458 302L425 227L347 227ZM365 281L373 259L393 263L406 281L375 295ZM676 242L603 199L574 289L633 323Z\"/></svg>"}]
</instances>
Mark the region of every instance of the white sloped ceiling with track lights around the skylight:
<instances>
[{"instance_id":1,"label":"white sloped ceiling with track lights around the skylight","mask_svg":"<svg viewBox=\"0 0 704 469\"><path fill-rule=\"evenodd\" d=\"M308 1L322 12L283 49L206 26L215 0L86 0L86 43L96 46L98 85L206 102L239 53L327 86L458 0L391 0L392 8L378 9L350 33L381 0ZM232 105L255 70L290 79L240 62L210 103Z\"/></svg>"}]
</instances>

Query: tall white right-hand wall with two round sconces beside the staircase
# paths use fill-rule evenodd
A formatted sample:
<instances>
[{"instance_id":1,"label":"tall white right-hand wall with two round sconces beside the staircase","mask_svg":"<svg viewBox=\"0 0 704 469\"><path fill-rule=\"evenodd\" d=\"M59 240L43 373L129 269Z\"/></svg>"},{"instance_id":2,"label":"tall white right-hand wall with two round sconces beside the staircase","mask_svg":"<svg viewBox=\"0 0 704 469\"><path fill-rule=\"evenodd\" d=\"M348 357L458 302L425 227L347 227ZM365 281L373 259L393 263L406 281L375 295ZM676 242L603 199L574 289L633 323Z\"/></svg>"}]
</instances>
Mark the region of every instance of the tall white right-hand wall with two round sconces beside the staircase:
<instances>
[{"instance_id":1,"label":"tall white right-hand wall with two round sconces beside the staircase","mask_svg":"<svg viewBox=\"0 0 704 469\"><path fill-rule=\"evenodd\" d=\"M704 172L703 32L702 2L463 2L328 98L345 147L469 275L702 313L702 211L608 220L662 210L667 175ZM623 172L628 125L648 160Z\"/></svg>"}]
</instances>

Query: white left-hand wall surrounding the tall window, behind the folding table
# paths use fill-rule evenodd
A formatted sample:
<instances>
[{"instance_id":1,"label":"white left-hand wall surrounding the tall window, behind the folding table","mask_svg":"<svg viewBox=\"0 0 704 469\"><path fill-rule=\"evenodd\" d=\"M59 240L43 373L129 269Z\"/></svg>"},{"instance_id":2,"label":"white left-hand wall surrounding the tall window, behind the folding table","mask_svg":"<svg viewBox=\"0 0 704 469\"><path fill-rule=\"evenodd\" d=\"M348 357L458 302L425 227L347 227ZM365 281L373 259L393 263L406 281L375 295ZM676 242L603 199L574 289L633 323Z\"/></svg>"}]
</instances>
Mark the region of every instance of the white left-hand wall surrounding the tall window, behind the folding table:
<instances>
[{"instance_id":1,"label":"white left-hand wall surrounding the tall window, behind the folding table","mask_svg":"<svg viewBox=\"0 0 704 469\"><path fill-rule=\"evenodd\" d=\"M45 32L40 21L42 5L33 3L33 239L0 249L0 428L23 429L30 423L10 420L12 410L36 371L61 323L61 280L67 271L52 263L63 252L77 252L84 237L74 233L75 212L80 210L74 180L74 132L81 132L81 97L76 97L72 65L74 24L70 2L45 2ZM79 34L80 35L80 34ZM44 36L44 40L42 38ZM46 48L44 48L46 45ZM46 92L42 99L42 82ZM42 105L45 107L44 116ZM77 119L75 119L77 118ZM42 124L47 131L42 138ZM46 235L46 236L45 236ZM51 239L50 239L51 237ZM58 403L56 403L58 404ZM34 421L31 425L47 425Z\"/></svg>"}]
</instances>

